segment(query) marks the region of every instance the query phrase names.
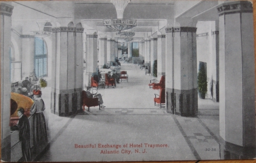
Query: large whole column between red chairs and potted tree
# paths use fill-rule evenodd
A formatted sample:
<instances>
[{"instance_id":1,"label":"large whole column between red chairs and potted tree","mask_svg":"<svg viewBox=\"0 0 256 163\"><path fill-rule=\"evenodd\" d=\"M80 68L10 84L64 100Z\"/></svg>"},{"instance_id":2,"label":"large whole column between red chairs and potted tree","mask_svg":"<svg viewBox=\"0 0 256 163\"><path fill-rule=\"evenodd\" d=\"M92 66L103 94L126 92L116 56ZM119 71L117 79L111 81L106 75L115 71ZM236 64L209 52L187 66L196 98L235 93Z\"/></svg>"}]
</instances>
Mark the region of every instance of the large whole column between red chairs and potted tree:
<instances>
[{"instance_id":1,"label":"large whole column between red chairs and potted tree","mask_svg":"<svg viewBox=\"0 0 256 163\"><path fill-rule=\"evenodd\" d=\"M166 28L166 110L180 116L197 113L196 28Z\"/></svg>"}]
</instances>

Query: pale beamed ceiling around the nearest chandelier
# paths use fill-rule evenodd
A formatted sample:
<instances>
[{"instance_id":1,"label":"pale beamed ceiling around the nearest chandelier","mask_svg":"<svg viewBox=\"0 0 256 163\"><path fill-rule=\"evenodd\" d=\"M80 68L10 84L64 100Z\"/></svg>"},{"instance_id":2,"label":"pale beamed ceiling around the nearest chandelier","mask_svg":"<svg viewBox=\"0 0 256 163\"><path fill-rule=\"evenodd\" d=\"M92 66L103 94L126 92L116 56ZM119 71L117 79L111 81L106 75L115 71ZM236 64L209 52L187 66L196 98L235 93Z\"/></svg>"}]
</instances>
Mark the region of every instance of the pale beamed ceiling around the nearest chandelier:
<instances>
[{"instance_id":1,"label":"pale beamed ceiling around the nearest chandelier","mask_svg":"<svg viewBox=\"0 0 256 163\"><path fill-rule=\"evenodd\" d=\"M157 31L164 32L160 29L168 24L167 21L200 15L207 8L213 8L217 4L218 1L131 0L125 8L123 18L137 20L137 26L127 31L146 33L148 36ZM117 18L115 6L110 0L13 1L12 5L14 26L21 26L22 21L29 20L65 20L64 25L75 20L81 22L85 30L113 34L117 32L108 29L102 22L103 19ZM55 26L63 25L56 23Z\"/></svg>"}]
</instances>

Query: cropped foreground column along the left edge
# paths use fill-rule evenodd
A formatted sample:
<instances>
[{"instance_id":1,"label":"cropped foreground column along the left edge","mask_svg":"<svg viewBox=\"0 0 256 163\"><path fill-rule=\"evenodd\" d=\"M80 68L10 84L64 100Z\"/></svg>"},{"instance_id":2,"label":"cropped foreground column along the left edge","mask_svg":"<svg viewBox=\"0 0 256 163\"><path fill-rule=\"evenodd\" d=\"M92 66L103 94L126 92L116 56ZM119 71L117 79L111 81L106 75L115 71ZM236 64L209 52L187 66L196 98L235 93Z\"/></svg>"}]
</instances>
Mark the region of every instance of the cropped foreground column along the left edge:
<instances>
[{"instance_id":1,"label":"cropped foreground column along the left edge","mask_svg":"<svg viewBox=\"0 0 256 163\"><path fill-rule=\"evenodd\" d=\"M10 99L11 99L11 15L13 6L0 4L1 54L1 160L11 162Z\"/></svg>"}]
</instances>

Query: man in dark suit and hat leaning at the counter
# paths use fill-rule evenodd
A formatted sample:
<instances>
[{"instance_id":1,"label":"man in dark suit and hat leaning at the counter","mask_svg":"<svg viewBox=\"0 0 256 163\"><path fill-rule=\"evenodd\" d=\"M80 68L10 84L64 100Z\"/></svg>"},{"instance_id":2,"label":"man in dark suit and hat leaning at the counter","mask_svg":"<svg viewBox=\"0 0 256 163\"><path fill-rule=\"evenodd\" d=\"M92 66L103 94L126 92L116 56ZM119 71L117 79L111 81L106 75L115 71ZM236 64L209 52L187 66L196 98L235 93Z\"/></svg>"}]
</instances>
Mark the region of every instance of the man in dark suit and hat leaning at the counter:
<instances>
[{"instance_id":1,"label":"man in dark suit and hat leaning at the counter","mask_svg":"<svg viewBox=\"0 0 256 163\"><path fill-rule=\"evenodd\" d=\"M25 162L31 161L30 152L30 127L27 116L24 115L24 108L18 109L19 122L16 126L12 126L11 130L19 130L19 138L21 141L21 150Z\"/></svg>"}]
</instances>

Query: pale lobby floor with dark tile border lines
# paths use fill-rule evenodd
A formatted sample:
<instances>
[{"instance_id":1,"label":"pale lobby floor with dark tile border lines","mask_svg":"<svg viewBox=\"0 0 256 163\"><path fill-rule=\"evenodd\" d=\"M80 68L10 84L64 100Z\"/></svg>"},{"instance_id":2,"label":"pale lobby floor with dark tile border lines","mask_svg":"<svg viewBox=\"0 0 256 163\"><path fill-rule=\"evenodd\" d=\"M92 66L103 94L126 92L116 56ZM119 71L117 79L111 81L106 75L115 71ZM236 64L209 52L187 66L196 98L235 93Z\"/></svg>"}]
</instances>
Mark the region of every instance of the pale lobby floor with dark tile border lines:
<instances>
[{"instance_id":1,"label":"pale lobby floor with dark tile border lines","mask_svg":"<svg viewBox=\"0 0 256 163\"><path fill-rule=\"evenodd\" d=\"M154 93L159 92L149 89L151 76L134 64L122 64L121 68L129 74L129 82L117 84L116 88L99 89L106 105L101 110L91 107L90 112L59 117L49 111L50 88L42 91L48 108L45 114L51 142L50 149L38 161L220 159L218 103L199 99L199 118L168 114L164 108L154 106ZM129 147L141 143L143 148ZM75 144L120 144L122 147L75 148ZM126 144L128 146L123 147ZM151 148L145 144L167 144L167 147ZM105 150L116 150L120 154L104 154Z\"/></svg>"}]
</instances>

